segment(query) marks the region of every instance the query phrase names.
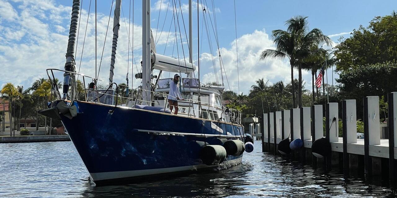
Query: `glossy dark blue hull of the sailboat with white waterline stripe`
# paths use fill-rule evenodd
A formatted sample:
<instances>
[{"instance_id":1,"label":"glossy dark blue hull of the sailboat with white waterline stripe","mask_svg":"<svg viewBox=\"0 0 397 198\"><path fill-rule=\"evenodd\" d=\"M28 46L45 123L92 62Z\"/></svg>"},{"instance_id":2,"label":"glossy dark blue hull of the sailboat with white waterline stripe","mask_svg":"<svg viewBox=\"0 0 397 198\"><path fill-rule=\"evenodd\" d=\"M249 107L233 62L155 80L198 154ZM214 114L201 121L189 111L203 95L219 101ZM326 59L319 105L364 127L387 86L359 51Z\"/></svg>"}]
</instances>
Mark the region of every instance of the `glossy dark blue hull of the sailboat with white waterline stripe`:
<instances>
[{"instance_id":1,"label":"glossy dark blue hull of the sailboat with white waterline stripe","mask_svg":"<svg viewBox=\"0 0 397 198\"><path fill-rule=\"evenodd\" d=\"M77 116L62 122L96 183L131 177L150 177L239 164L241 156L227 156L207 166L198 158L194 141L215 144L218 137L243 138L239 125L174 116L147 110L75 102ZM113 110L113 113L109 113ZM203 134L206 134L203 136ZM231 138L230 138L231 137ZM192 146L193 145L193 146Z\"/></svg>"}]
</instances>

